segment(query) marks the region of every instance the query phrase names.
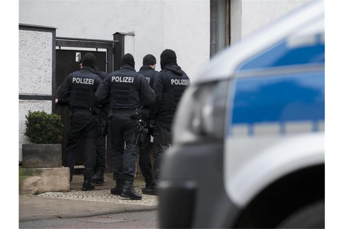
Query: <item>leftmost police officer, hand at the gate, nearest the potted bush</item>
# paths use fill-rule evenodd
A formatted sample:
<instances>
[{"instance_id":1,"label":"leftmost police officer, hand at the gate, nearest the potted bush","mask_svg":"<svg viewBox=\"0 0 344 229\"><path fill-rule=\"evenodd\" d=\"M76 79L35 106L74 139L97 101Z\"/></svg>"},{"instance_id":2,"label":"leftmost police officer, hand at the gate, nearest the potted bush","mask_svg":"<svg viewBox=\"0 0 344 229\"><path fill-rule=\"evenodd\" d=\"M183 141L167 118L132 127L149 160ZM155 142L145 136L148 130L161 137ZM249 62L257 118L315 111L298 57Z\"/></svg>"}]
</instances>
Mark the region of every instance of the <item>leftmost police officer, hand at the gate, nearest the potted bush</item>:
<instances>
[{"instance_id":1,"label":"leftmost police officer, hand at the gate, nearest the potted bush","mask_svg":"<svg viewBox=\"0 0 344 229\"><path fill-rule=\"evenodd\" d=\"M61 99L69 97L71 124L67 134L65 167L69 167L71 181L80 134L83 134L86 139L84 184L82 188L84 191L94 189L91 179L95 167L96 134L99 124L98 116L96 115L97 101L94 94L101 83L101 79L94 71L95 63L96 57L92 53L86 53L83 57L83 68L69 74L57 92L58 97Z\"/></svg>"}]
</instances>

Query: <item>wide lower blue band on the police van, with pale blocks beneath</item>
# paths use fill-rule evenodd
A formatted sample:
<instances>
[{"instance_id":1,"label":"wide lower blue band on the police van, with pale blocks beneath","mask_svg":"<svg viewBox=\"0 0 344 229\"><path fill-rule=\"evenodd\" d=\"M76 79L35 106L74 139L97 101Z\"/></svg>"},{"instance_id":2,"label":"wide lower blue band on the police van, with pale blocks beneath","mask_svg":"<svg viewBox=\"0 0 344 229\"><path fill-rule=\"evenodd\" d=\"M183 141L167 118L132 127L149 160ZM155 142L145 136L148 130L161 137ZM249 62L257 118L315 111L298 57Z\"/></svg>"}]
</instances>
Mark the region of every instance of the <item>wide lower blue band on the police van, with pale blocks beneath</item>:
<instances>
[{"instance_id":1,"label":"wide lower blue band on the police van, with pale blocks beneath","mask_svg":"<svg viewBox=\"0 0 344 229\"><path fill-rule=\"evenodd\" d=\"M247 135L269 131L288 134L323 129L319 128L325 117L323 71L237 78L234 84L232 118L228 120L232 128L227 134L243 135L246 130Z\"/></svg>"}]
</instances>

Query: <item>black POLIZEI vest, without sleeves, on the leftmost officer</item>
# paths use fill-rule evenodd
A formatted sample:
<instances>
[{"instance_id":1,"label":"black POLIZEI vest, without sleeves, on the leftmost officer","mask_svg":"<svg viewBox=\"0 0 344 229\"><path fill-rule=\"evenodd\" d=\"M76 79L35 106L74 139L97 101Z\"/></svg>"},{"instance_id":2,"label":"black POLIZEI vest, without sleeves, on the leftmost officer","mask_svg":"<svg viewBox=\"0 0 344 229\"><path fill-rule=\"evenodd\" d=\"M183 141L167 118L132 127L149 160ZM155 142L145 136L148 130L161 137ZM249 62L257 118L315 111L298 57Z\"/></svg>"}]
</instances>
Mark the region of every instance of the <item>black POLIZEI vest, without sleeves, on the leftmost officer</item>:
<instances>
[{"instance_id":1,"label":"black POLIZEI vest, without sleeves, on the leftmost officer","mask_svg":"<svg viewBox=\"0 0 344 229\"><path fill-rule=\"evenodd\" d=\"M71 92L69 104L72 107L94 107L96 106L95 92L97 90L96 74L88 71L75 71L71 75ZM100 80L100 79L99 79Z\"/></svg>"}]
</instances>

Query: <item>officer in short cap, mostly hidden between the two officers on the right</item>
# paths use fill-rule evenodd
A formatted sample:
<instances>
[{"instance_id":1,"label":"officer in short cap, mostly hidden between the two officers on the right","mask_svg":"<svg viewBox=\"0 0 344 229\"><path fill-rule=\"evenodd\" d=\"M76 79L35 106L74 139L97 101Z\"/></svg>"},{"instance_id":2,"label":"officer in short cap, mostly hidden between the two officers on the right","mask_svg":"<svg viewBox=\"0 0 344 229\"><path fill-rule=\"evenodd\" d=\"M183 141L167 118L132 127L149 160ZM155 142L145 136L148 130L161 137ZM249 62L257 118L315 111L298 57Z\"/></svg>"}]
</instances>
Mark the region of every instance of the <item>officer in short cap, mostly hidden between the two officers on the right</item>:
<instances>
[{"instance_id":1,"label":"officer in short cap, mostly hidden between the two officers on the right","mask_svg":"<svg viewBox=\"0 0 344 229\"><path fill-rule=\"evenodd\" d=\"M140 68L139 73L146 77L149 85L153 88L154 82L154 75L158 73L155 71L155 64L157 64L157 60L152 54L148 54L143 57L142 61L143 66ZM141 109L141 118L148 124L149 120L149 106L143 106ZM144 140L144 144L140 147L139 153L139 165L144 177L144 181L146 182L146 187L142 188L142 193L148 195L155 195L155 189L153 188L153 174L152 164L150 160L150 136L153 135L153 129L148 127L148 134L146 135L146 139Z\"/></svg>"}]
</instances>

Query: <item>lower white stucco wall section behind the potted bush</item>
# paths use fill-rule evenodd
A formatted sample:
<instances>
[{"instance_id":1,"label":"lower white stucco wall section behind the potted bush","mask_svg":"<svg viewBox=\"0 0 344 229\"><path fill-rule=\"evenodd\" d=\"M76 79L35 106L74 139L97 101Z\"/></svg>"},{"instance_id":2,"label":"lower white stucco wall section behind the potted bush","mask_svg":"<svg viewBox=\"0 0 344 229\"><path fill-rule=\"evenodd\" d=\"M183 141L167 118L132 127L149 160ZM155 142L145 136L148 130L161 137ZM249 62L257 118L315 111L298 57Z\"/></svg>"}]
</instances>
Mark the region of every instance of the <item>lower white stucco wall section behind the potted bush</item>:
<instances>
[{"instance_id":1,"label":"lower white stucco wall section behind the potted bush","mask_svg":"<svg viewBox=\"0 0 344 229\"><path fill-rule=\"evenodd\" d=\"M19 163L22 161L22 144L29 143L25 133L25 115L30 111L45 111L51 113L52 101L19 100Z\"/></svg>"}]
</instances>

